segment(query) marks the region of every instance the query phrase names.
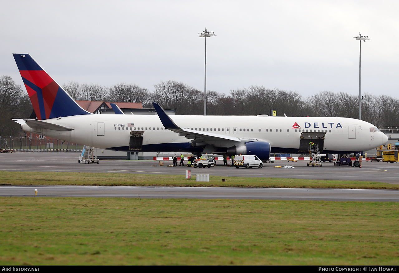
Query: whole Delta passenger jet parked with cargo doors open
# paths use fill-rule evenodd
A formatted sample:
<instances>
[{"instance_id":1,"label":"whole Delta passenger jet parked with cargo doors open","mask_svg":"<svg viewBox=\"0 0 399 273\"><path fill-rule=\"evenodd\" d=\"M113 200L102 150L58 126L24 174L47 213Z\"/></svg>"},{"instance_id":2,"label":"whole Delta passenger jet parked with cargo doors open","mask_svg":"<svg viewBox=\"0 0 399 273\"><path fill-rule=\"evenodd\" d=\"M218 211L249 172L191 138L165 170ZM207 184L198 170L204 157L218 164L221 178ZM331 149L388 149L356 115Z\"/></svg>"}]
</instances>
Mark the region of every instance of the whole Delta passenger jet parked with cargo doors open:
<instances>
[{"instance_id":1,"label":"whole Delta passenger jet parked with cargo doors open","mask_svg":"<svg viewBox=\"0 0 399 273\"><path fill-rule=\"evenodd\" d=\"M81 108L28 54L14 54L37 119L14 119L29 133L115 151L348 154L387 142L374 125L344 117L96 115Z\"/></svg>"}]
</instances>

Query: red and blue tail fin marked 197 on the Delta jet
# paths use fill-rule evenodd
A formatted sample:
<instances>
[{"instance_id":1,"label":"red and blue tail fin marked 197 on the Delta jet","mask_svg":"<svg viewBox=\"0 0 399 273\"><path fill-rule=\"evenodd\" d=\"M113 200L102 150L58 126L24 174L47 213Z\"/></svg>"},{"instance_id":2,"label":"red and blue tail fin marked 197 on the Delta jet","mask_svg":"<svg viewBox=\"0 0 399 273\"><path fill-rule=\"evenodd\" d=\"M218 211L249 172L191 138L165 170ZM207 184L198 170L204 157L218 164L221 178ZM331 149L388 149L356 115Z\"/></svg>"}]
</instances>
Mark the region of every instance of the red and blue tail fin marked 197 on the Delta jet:
<instances>
[{"instance_id":1,"label":"red and blue tail fin marked 197 on the Delta jet","mask_svg":"<svg viewBox=\"0 0 399 273\"><path fill-rule=\"evenodd\" d=\"M13 54L39 120L91 115L81 108L29 54Z\"/></svg>"}]
</instances>

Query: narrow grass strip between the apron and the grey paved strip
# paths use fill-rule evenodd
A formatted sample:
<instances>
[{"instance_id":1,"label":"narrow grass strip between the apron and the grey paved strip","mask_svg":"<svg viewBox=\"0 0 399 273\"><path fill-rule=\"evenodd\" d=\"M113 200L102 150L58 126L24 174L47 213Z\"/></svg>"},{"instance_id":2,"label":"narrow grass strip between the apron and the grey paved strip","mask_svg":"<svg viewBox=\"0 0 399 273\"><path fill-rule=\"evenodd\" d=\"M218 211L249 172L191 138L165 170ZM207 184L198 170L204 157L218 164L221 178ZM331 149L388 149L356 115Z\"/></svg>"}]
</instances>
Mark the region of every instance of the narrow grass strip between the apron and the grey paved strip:
<instances>
[{"instance_id":1,"label":"narrow grass strip between the apron and the grey paved strip","mask_svg":"<svg viewBox=\"0 0 399 273\"><path fill-rule=\"evenodd\" d=\"M225 179L225 182L222 182ZM372 181L312 180L268 177L211 176L209 182L196 182L184 176L151 174L103 174L65 172L0 171L0 185L120 185L178 187L281 187L323 189L399 189L393 185Z\"/></svg>"}]
</instances>

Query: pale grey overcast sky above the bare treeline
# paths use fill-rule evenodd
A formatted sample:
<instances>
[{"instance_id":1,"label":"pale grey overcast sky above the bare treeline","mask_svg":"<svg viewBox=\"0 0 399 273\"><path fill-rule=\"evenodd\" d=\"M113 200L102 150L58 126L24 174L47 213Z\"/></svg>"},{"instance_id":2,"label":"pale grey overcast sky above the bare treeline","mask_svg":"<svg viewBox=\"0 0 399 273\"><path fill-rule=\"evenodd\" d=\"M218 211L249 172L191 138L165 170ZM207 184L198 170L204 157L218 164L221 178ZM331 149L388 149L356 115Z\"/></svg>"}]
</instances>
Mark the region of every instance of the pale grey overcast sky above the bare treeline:
<instances>
[{"instance_id":1,"label":"pale grey overcast sky above the bare treeline","mask_svg":"<svg viewBox=\"0 0 399 273\"><path fill-rule=\"evenodd\" d=\"M2 1L0 75L23 84L12 53L30 54L59 84L154 89L263 85L303 97L328 90L397 96L399 1Z\"/></svg>"}]
</instances>

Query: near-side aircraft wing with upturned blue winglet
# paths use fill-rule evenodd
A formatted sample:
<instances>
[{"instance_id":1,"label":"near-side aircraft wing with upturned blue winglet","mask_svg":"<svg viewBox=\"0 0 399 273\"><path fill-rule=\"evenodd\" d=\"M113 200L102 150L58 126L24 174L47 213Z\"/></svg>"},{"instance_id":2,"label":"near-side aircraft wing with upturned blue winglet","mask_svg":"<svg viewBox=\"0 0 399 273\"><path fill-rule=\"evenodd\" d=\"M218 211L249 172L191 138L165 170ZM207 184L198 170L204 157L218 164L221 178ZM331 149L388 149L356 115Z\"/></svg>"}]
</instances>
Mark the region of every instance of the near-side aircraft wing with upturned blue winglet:
<instances>
[{"instance_id":1,"label":"near-side aircraft wing with upturned blue winglet","mask_svg":"<svg viewBox=\"0 0 399 273\"><path fill-rule=\"evenodd\" d=\"M162 122L162 125L170 131L174 131L178 133L181 136L185 136L186 138L189 139L202 139L202 140L209 140L209 141L235 141L235 142L242 142L242 140L238 137L235 136L224 136L220 134L215 134L215 133L208 133L208 132L203 132L203 131L196 131L196 130L190 130L190 129L184 129L180 128L174 121L168 116L168 114L165 112L165 110L160 107L160 105L156 102L153 102L152 105L154 105L154 108L156 110L156 113L158 114L159 119Z\"/></svg>"}]
</instances>

